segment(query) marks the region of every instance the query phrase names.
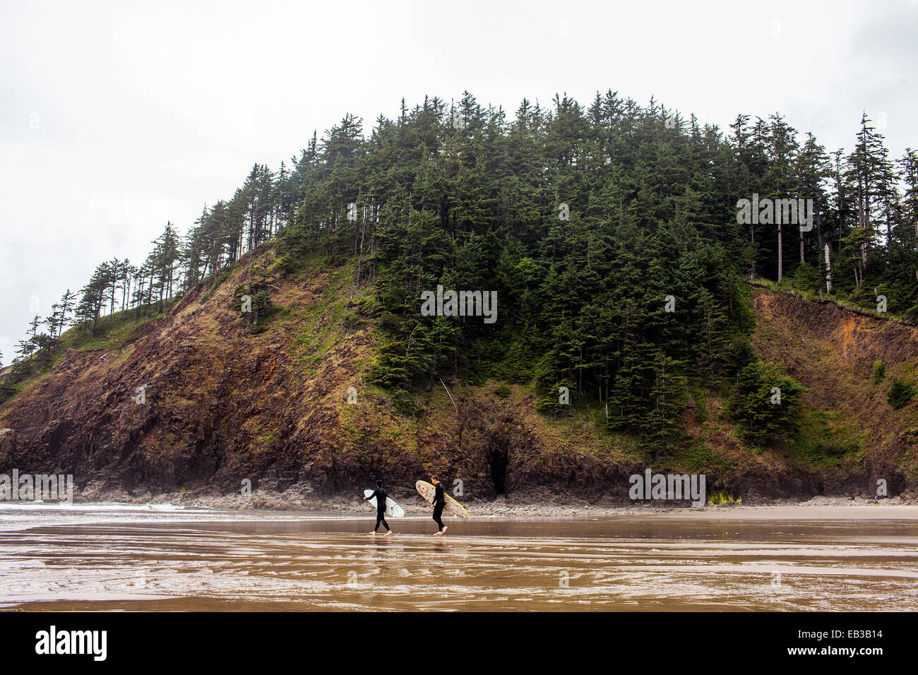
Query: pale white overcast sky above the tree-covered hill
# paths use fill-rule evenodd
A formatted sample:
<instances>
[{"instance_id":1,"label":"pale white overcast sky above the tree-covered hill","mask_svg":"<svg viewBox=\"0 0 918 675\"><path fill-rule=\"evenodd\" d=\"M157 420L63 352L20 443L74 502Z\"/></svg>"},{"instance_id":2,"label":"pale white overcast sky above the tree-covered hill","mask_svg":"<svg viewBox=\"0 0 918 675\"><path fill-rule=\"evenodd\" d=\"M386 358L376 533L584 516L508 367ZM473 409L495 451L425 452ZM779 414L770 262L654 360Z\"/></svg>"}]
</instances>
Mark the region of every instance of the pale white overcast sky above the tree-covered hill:
<instances>
[{"instance_id":1,"label":"pale white overcast sky above the tree-covered hill","mask_svg":"<svg viewBox=\"0 0 918 675\"><path fill-rule=\"evenodd\" d=\"M780 111L829 151L861 111L918 145L918 3L0 0L0 351L96 264L140 264L345 112L618 90L722 129Z\"/></svg>"}]
</instances>

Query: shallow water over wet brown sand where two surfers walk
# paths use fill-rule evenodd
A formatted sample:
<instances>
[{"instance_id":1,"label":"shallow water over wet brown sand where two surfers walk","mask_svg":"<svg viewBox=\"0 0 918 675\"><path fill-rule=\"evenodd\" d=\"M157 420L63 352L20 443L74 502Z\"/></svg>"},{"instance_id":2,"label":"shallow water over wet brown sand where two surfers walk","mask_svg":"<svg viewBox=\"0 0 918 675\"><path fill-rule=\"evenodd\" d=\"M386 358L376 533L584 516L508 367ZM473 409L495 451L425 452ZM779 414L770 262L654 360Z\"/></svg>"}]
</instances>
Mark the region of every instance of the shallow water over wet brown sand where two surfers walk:
<instances>
[{"instance_id":1,"label":"shallow water over wet brown sand where two surfers walk","mask_svg":"<svg viewBox=\"0 0 918 675\"><path fill-rule=\"evenodd\" d=\"M384 537L366 517L4 505L0 607L918 609L918 520L880 512L451 518L443 537L418 517Z\"/></svg>"}]
</instances>

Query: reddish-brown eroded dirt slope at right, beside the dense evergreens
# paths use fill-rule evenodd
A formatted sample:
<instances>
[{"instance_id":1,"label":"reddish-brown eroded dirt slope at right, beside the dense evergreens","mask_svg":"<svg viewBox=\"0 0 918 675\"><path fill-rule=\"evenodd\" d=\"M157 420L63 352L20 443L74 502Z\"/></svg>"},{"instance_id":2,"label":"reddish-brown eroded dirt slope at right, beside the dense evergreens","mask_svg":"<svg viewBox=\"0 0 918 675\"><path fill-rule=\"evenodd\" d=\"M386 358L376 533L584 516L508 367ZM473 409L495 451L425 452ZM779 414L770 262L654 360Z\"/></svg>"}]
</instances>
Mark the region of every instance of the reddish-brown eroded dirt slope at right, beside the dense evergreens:
<instances>
[{"instance_id":1,"label":"reddish-brown eroded dirt slope at right, beside the dense evergreens","mask_svg":"<svg viewBox=\"0 0 918 675\"><path fill-rule=\"evenodd\" d=\"M887 402L893 377L914 383L918 369L918 329L897 321L879 321L842 309L763 289L753 293L756 352L782 363L809 389L804 409L809 416L831 419L831 427L852 431L862 445L862 470L828 472L830 482L851 478L885 478L895 491L918 477L918 405L896 411ZM874 380L882 361L885 377ZM848 481L856 488L854 481ZM841 485L827 486L838 491ZM845 488L846 489L846 488Z\"/></svg>"}]
</instances>

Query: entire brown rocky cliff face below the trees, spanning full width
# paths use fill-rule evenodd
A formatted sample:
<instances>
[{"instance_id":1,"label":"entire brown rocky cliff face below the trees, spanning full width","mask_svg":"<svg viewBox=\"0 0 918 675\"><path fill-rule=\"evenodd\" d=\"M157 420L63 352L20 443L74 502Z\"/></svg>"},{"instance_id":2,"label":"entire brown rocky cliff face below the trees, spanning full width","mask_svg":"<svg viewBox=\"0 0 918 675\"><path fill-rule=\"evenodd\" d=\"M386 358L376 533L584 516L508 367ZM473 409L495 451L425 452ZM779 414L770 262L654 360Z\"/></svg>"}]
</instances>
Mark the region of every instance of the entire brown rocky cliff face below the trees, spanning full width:
<instances>
[{"instance_id":1,"label":"entire brown rocky cliff face below the trees, spanning full width","mask_svg":"<svg viewBox=\"0 0 918 675\"><path fill-rule=\"evenodd\" d=\"M271 264L274 253L254 255ZM918 484L918 406L886 403L892 376L915 377L918 331L901 324L754 291L756 350L810 388L810 432L856 452L750 449L723 401L710 399L703 421L685 420L697 449L652 461L633 439L599 432L588 411L557 421L536 413L535 394L520 386L434 380L415 397L420 413L398 412L364 382L378 335L359 311L367 289L353 287L353 270L313 264L280 276L279 309L254 334L236 301L249 274L246 259L166 317L103 348L69 350L0 406L0 428L15 432L0 470L72 473L78 487L135 494L238 493L245 479L252 489L332 493L378 476L410 487L436 472L462 480L466 499L541 490L627 501L628 476L644 466L705 472L709 492L747 500L872 494L875 478L893 493ZM875 384L877 359L887 377Z\"/></svg>"}]
</instances>

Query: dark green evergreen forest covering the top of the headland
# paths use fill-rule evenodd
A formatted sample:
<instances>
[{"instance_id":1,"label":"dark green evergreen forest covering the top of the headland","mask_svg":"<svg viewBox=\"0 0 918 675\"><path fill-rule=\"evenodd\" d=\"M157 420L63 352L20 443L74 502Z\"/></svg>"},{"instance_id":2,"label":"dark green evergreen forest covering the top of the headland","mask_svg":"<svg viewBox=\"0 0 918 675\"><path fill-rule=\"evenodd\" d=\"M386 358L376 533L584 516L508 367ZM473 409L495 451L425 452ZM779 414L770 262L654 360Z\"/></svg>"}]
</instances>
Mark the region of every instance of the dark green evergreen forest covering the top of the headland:
<instances>
[{"instance_id":1,"label":"dark green evergreen forest covering the top of the headland","mask_svg":"<svg viewBox=\"0 0 918 675\"><path fill-rule=\"evenodd\" d=\"M812 227L740 222L754 196L812 199ZM270 268L248 255L264 244ZM749 282L914 322L918 154L890 156L866 114L844 151L779 113L719 129L612 91L512 116L469 93L372 125L346 115L290 163L256 163L185 233L165 224L142 263L116 254L66 290L19 343L0 402L62 346L162 317L240 264L257 326L277 309L271 279L317 260L364 289L356 310L381 342L362 377L405 414L431 384L494 379L532 388L551 419L587 406L653 456L688 444L687 411L704 416L709 396L744 443L789 443L806 388L756 354ZM438 286L496 291L498 321L422 316Z\"/></svg>"}]
</instances>

